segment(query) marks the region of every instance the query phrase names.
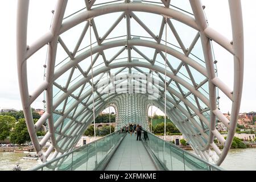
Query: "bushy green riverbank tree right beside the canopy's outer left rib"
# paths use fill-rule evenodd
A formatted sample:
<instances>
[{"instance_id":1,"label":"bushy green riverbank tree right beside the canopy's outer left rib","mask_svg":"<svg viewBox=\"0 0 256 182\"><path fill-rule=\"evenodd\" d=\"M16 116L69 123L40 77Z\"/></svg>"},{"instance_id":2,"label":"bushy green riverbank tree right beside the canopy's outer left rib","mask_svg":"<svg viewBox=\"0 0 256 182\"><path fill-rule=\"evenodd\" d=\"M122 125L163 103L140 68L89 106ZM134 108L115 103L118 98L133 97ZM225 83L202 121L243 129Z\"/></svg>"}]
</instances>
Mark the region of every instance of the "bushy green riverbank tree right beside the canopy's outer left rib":
<instances>
[{"instance_id":1,"label":"bushy green riverbank tree right beside the canopy's outer left rib","mask_svg":"<svg viewBox=\"0 0 256 182\"><path fill-rule=\"evenodd\" d=\"M13 131L10 134L11 143L22 144L30 141L30 135L28 134L26 121L24 118L18 120L15 123Z\"/></svg>"}]
</instances>

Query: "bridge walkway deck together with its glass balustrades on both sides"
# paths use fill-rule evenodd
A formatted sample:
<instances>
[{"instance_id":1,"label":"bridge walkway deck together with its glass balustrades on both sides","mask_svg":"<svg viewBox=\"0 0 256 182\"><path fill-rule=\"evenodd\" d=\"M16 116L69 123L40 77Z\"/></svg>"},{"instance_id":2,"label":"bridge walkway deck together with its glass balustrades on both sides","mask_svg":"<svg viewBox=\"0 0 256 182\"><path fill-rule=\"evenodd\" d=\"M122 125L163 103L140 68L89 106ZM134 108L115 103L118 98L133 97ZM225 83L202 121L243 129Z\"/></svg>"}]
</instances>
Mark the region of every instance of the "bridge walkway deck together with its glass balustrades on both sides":
<instances>
[{"instance_id":1,"label":"bridge walkway deck together with its glass balustrades on both sides","mask_svg":"<svg viewBox=\"0 0 256 182\"><path fill-rule=\"evenodd\" d=\"M109 134L30 170L48 171L219 171L222 168L148 133Z\"/></svg>"}]
</instances>

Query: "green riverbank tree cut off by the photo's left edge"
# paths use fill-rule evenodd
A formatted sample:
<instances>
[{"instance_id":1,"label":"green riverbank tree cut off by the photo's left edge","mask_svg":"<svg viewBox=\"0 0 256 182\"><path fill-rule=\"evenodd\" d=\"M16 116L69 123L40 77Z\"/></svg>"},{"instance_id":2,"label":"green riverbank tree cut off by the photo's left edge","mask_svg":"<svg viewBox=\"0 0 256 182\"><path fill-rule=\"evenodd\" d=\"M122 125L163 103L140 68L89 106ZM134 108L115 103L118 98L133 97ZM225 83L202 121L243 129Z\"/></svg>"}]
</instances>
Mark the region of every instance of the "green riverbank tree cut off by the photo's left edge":
<instances>
[{"instance_id":1,"label":"green riverbank tree cut off by the photo's left edge","mask_svg":"<svg viewBox=\"0 0 256 182\"><path fill-rule=\"evenodd\" d=\"M6 139L14 127L15 118L10 115L0 115L0 140Z\"/></svg>"}]
</instances>

